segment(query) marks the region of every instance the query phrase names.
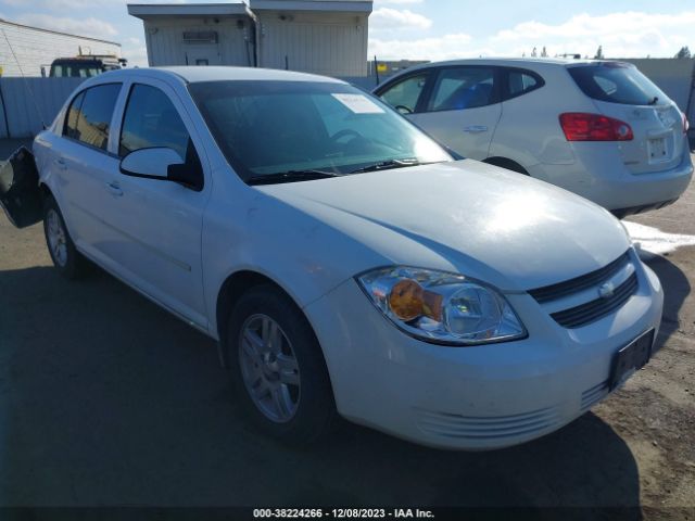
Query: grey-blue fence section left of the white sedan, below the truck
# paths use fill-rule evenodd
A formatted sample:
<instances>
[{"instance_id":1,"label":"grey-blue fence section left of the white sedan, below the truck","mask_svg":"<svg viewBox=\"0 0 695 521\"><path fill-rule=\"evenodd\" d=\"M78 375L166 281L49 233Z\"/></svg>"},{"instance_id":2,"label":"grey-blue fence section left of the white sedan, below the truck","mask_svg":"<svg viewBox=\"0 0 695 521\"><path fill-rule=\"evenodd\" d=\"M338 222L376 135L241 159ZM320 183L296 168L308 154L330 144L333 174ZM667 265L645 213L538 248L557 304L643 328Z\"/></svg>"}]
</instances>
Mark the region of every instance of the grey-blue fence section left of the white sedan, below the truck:
<instances>
[{"instance_id":1,"label":"grey-blue fence section left of the white sedan, below the truck","mask_svg":"<svg viewBox=\"0 0 695 521\"><path fill-rule=\"evenodd\" d=\"M0 78L0 139L30 138L50 125L85 78Z\"/></svg>"}]
</instances>

